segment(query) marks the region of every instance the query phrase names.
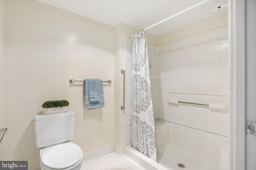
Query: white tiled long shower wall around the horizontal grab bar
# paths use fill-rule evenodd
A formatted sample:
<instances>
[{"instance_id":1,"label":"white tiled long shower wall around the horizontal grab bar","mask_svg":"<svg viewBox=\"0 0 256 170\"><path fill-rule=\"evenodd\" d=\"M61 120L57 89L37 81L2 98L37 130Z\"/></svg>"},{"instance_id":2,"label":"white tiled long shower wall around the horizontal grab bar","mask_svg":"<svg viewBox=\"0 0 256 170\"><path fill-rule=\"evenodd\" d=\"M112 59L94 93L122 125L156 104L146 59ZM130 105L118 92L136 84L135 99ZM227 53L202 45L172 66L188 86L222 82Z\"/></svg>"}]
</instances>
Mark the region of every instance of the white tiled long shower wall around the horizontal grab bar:
<instances>
[{"instance_id":1,"label":"white tiled long shower wall around the horizontal grab bar","mask_svg":"<svg viewBox=\"0 0 256 170\"><path fill-rule=\"evenodd\" d=\"M228 136L228 111L168 103L170 93L194 96L195 101L202 95L221 96L228 102L228 26L157 48L155 117Z\"/></svg>"}]
</instances>

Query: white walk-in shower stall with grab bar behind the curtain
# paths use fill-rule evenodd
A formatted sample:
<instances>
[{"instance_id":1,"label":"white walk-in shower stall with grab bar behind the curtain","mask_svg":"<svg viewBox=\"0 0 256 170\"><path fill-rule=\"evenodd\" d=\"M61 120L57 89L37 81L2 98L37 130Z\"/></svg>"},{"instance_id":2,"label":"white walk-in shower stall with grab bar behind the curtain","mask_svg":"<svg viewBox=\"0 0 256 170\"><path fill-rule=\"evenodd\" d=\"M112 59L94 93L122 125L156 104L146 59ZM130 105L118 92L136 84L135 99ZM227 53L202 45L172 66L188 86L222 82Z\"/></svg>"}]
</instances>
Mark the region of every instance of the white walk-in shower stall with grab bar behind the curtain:
<instances>
[{"instance_id":1,"label":"white walk-in shower stall with grab bar behind the curtain","mask_svg":"<svg viewBox=\"0 0 256 170\"><path fill-rule=\"evenodd\" d=\"M148 44L157 162L131 145L132 43L125 39L126 155L146 169L227 170L228 26L164 45Z\"/></svg>"}]
</instances>

